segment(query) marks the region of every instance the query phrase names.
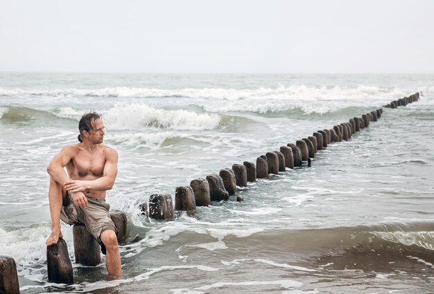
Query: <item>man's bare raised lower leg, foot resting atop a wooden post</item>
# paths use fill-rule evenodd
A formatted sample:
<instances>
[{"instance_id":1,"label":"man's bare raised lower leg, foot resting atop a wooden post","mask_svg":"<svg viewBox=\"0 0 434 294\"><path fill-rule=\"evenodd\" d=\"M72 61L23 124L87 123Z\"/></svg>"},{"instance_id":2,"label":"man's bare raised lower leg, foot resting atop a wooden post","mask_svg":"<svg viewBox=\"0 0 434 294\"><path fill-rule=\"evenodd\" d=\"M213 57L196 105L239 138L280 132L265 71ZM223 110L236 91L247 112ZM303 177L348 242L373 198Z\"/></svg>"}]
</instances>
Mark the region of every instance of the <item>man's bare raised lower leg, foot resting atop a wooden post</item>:
<instances>
[{"instance_id":1,"label":"man's bare raised lower leg, foot resting atop a wooden post","mask_svg":"<svg viewBox=\"0 0 434 294\"><path fill-rule=\"evenodd\" d=\"M57 244L59 238L62 238L60 231L60 209L62 203L67 203L67 192L63 189L62 185L50 178L49 188L49 203L51 215L51 234L46 239L46 245L51 246Z\"/></svg>"}]
</instances>

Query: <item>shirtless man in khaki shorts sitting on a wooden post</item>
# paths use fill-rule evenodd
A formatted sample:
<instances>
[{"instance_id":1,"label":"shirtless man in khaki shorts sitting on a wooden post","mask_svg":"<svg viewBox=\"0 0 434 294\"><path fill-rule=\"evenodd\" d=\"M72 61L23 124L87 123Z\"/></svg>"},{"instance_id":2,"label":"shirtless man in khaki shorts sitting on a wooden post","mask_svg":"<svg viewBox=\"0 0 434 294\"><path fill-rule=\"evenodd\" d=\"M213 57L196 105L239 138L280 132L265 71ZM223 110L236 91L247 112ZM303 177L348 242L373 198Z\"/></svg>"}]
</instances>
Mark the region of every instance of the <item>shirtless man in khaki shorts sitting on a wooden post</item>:
<instances>
[{"instance_id":1,"label":"shirtless man in khaki shorts sitting on a wooden post","mask_svg":"<svg viewBox=\"0 0 434 294\"><path fill-rule=\"evenodd\" d=\"M110 205L105 203L105 192L112 189L116 179L118 154L102 144L104 124L98 113L85 113L78 129L80 143L63 147L46 168L50 175L52 222L46 245L57 244L63 237L60 219L70 225L84 223L103 251L106 250L109 275L121 277L117 230L108 212Z\"/></svg>"}]
</instances>

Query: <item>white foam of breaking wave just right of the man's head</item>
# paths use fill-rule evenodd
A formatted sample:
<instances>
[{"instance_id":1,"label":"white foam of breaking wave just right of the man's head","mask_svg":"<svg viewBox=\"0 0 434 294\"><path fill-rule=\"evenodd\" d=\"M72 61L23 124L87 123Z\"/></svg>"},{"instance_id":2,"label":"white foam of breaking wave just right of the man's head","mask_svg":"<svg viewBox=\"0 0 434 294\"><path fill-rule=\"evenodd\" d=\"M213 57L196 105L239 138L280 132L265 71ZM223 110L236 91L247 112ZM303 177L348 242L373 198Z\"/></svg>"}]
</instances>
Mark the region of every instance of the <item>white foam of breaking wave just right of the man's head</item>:
<instances>
[{"instance_id":1,"label":"white foam of breaking wave just right of the man's head","mask_svg":"<svg viewBox=\"0 0 434 294\"><path fill-rule=\"evenodd\" d=\"M195 113L185 110L155 109L146 104L116 104L104 115L106 125L113 129L161 129L205 130L214 129L220 123L216 114Z\"/></svg>"}]
</instances>

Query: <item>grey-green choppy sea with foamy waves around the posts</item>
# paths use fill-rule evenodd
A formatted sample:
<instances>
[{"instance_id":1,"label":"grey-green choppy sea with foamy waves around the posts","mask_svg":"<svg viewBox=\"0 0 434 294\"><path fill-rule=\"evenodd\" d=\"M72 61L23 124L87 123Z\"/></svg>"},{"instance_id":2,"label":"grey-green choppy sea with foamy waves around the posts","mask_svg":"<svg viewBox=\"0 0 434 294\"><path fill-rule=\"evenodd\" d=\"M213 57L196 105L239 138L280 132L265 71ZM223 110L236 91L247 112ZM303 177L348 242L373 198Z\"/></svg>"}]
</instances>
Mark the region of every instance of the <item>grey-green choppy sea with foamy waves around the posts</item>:
<instances>
[{"instance_id":1,"label":"grey-green choppy sea with foamy waves around the posts","mask_svg":"<svg viewBox=\"0 0 434 294\"><path fill-rule=\"evenodd\" d=\"M312 167L239 188L244 202L173 221L139 211L417 91ZM0 73L0 255L17 262L21 293L433 293L433 98L434 75ZM119 152L107 201L128 214L123 277L76 264L63 225L75 283L53 284L45 169L89 110Z\"/></svg>"}]
</instances>

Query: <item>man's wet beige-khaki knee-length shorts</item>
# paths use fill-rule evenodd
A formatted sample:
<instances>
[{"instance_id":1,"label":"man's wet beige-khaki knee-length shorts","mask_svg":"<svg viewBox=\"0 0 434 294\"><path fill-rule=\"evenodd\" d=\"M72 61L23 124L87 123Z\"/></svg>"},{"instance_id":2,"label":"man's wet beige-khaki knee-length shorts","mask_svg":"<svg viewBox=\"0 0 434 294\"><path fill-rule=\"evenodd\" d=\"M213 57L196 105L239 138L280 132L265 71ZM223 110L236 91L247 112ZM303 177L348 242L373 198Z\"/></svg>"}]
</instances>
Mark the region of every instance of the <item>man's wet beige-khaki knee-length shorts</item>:
<instances>
[{"instance_id":1,"label":"man's wet beige-khaki knee-length shorts","mask_svg":"<svg viewBox=\"0 0 434 294\"><path fill-rule=\"evenodd\" d=\"M60 219L69 225L84 224L87 230L98 240L101 245L101 234L105 230L118 230L110 218L110 204L105 203L105 199L89 198L87 199L86 208L78 208L71 199L71 194L67 194L68 205L62 206L60 210Z\"/></svg>"}]
</instances>

